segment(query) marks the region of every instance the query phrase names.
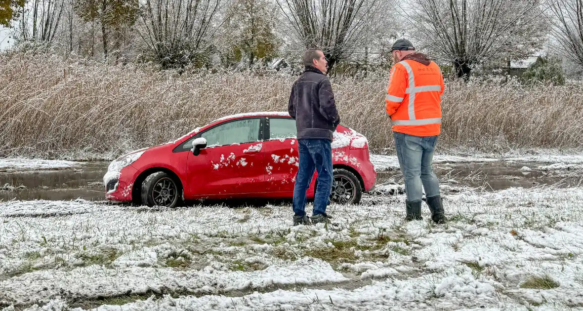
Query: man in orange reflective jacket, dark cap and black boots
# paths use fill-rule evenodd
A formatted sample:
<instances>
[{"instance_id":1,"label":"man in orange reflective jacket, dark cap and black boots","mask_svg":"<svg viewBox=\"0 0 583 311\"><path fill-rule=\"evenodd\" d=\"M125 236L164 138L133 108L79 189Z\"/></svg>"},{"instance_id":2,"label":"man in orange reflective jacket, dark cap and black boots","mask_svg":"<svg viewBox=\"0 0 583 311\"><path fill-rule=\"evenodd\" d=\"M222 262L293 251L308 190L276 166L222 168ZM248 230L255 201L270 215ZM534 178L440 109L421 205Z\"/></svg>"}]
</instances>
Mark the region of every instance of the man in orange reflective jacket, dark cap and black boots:
<instances>
[{"instance_id":1,"label":"man in orange reflective jacket, dark cap and black boots","mask_svg":"<svg viewBox=\"0 0 583 311\"><path fill-rule=\"evenodd\" d=\"M431 219L445 222L439 181L433 172L433 153L441 130L443 76L436 63L415 51L410 41L395 41L395 65L385 104L391 119L399 166L405 178L406 217L422 220L423 189Z\"/></svg>"}]
</instances>

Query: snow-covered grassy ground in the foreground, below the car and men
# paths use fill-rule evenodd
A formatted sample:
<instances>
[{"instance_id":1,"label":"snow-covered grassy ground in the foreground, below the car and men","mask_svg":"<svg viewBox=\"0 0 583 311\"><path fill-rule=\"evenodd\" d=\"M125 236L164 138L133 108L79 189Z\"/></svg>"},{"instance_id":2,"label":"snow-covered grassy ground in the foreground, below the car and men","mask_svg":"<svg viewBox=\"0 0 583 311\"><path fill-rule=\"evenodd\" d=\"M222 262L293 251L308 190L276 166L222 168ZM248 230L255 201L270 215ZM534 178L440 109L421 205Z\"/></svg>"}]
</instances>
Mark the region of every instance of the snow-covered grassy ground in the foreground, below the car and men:
<instances>
[{"instance_id":1,"label":"snow-covered grassy ground in the foreground, below the car and men","mask_svg":"<svg viewBox=\"0 0 583 311\"><path fill-rule=\"evenodd\" d=\"M423 221L403 221L404 200L331 206L327 228L292 227L286 204L2 203L0 306L583 308L583 189L463 189L445 195L445 225L426 206Z\"/></svg>"}]
</instances>

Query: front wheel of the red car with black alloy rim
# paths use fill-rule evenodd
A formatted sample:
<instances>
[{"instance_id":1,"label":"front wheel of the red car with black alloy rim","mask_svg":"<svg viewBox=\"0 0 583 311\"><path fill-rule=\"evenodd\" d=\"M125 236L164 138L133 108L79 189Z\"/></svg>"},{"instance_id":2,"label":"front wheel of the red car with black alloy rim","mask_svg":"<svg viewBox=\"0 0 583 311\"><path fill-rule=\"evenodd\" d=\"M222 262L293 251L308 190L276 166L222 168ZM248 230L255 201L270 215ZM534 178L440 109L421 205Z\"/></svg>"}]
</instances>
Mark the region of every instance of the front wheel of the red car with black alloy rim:
<instances>
[{"instance_id":1,"label":"front wheel of the red car with black alloy rim","mask_svg":"<svg viewBox=\"0 0 583 311\"><path fill-rule=\"evenodd\" d=\"M182 201L182 185L165 172L155 172L142 183L142 204L176 207Z\"/></svg>"}]
</instances>

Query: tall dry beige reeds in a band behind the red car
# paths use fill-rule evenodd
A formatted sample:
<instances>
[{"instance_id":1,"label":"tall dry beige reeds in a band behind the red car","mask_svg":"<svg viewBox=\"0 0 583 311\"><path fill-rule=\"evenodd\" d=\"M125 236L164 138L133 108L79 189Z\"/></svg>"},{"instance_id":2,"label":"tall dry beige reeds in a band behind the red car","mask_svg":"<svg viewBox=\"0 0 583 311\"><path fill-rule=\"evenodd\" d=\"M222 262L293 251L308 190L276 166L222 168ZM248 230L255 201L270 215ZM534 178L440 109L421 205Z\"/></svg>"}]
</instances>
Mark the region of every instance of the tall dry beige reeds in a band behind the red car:
<instances>
[{"instance_id":1,"label":"tall dry beige reeds in a band behind the red car","mask_svg":"<svg viewBox=\"0 0 583 311\"><path fill-rule=\"evenodd\" d=\"M0 156L112 158L220 116L286 111L294 77L157 72L55 55L0 55ZM392 148L387 76L333 81L342 122ZM583 87L448 83L440 149L579 148Z\"/></svg>"}]
</instances>

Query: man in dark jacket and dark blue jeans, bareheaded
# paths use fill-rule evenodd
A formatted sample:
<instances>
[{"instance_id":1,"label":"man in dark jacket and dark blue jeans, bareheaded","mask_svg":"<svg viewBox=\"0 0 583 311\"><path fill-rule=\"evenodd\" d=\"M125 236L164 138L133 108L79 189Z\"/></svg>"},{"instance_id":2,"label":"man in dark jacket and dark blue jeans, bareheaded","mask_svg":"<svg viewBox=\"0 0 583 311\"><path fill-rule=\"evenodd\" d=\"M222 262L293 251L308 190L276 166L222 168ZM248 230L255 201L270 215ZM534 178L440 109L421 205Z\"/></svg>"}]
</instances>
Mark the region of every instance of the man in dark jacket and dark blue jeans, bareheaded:
<instances>
[{"instance_id":1,"label":"man in dark jacket and dark blue jeans, bareheaded","mask_svg":"<svg viewBox=\"0 0 583 311\"><path fill-rule=\"evenodd\" d=\"M332 188L332 133L340 123L332 86L326 78L326 58L319 49L304 53L304 73L291 87L289 114L296 120L300 168L293 192L293 224L330 222L326 214ZM318 171L312 217L305 214L306 191ZM310 221L311 220L311 221Z\"/></svg>"}]
</instances>

